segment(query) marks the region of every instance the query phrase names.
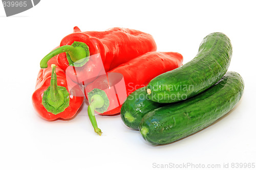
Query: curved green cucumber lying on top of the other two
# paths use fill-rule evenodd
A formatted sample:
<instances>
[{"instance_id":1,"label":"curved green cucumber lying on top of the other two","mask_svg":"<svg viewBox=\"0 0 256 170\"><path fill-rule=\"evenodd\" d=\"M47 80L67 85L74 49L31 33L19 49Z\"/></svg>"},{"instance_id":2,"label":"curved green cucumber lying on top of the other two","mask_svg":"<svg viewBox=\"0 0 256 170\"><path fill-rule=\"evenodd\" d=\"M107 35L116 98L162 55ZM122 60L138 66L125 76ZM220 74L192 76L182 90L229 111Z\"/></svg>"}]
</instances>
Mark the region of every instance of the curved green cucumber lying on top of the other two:
<instances>
[{"instance_id":1,"label":"curved green cucumber lying on top of the other two","mask_svg":"<svg viewBox=\"0 0 256 170\"><path fill-rule=\"evenodd\" d=\"M147 89L151 90L148 98L158 103L173 103L199 94L225 75L231 56L232 45L225 34L207 35L193 60L148 83Z\"/></svg>"}]
</instances>

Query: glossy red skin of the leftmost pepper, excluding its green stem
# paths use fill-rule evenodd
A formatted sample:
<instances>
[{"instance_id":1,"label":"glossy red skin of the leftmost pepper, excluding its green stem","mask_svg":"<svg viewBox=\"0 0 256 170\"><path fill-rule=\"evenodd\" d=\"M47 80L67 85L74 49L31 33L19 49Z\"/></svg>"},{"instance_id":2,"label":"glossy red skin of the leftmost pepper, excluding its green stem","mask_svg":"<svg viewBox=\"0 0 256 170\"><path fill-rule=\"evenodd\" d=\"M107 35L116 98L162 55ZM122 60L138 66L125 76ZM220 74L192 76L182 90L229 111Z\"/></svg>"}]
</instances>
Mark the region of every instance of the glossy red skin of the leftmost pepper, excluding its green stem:
<instances>
[{"instance_id":1,"label":"glossy red skin of the leftmost pepper, excluding its green stem","mask_svg":"<svg viewBox=\"0 0 256 170\"><path fill-rule=\"evenodd\" d=\"M55 120L58 118L62 119L70 119L72 118L80 106L83 103L83 97L82 96L75 96L73 93L75 91L69 92L67 88L67 81L66 81L66 74L65 71L62 69L56 67L56 82L57 85L62 87L64 90L68 91L68 98L69 98L69 105L67 108L65 108L64 111L60 113L52 113L47 111L46 107L42 104L43 98L44 98L44 92L50 88L51 85L51 79L52 79L52 68L51 65L57 64L57 56L51 58L48 61L48 67L45 69L40 69L36 81L36 87L35 91L32 94L32 104L37 111L37 113L46 120ZM79 90L79 89L76 89Z\"/></svg>"}]
</instances>

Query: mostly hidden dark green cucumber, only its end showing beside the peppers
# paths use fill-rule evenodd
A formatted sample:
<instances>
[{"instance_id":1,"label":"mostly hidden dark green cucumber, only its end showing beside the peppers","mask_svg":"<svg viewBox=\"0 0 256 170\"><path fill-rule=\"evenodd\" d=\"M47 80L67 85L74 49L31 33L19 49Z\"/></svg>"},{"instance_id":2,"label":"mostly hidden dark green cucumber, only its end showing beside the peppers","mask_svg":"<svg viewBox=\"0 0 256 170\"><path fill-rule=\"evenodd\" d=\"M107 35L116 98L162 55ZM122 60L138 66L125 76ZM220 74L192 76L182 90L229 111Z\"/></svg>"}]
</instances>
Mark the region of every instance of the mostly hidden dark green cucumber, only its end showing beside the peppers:
<instances>
[{"instance_id":1,"label":"mostly hidden dark green cucumber, only its end showing beside the peppers","mask_svg":"<svg viewBox=\"0 0 256 170\"><path fill-rule=\"evenodd\" d=\"M146 87L142 87L132 92L121 108L123 123L135 130L139 130L140 121L146 113L164 106L164 104L149 100L146 97L145 89Z\"/></svg>"}]
</instances>

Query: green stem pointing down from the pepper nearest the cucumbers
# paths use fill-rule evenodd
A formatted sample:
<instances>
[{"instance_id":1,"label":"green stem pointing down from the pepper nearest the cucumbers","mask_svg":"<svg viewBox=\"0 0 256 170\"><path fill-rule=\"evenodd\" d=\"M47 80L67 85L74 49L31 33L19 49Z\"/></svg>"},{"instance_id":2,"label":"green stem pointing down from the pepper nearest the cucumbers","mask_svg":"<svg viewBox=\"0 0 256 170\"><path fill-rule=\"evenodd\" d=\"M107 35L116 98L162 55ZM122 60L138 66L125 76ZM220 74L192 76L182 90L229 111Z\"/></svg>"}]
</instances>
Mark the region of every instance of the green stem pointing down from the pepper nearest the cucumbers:
<instances>
[{"instance_id":1,"label":"green stem pointing down from the pepper nearest the cucumbers","mask_svg":"<svg viewBox=\"0 0 256 170\"><path fill-rule=\"evenodd\" d=\"M101 135L102 132L101 130L98 128L97 125L97 121L95 118L95 114L94 114L94 110L96 108L101 108L104 105L104 99L102 98L102 96L100 96L99 94L94 94L91 98L91 104L88 106L88 115L90 118L90 121L92 123L92 126L94 128L94 131L98 134Z\"/></svg>"}]
</instances>

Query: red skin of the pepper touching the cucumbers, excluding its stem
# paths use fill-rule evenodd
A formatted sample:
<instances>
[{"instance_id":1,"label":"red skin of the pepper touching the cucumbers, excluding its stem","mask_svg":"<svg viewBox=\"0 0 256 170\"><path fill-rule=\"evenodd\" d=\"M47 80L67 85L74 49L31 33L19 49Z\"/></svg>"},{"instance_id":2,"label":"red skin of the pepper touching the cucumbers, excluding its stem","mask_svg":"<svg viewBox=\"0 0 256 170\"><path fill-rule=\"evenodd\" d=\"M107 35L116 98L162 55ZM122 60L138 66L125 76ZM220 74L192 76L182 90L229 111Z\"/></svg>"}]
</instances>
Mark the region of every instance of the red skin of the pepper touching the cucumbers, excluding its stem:
<instances>
[{"instance_id":1,"label":"red skin of the pepper touching the cucumbers, excluding its stem","mask_svg":"<svg viewBox=\"0 0 256 170\"><path fill-rule=\"evenodd\" d=\"M166 71L173 70L182 65L183 57L179 53L174 52L148 52L141 55L129 62L123 63L118 67L107 72L108 75L114 72L118 72L123 76L126 96L131 94L138 88L146 86L156 76L163 74ZM100 76L91 84L89 84L85 93L92 91L93 89L104 90L106 95L108 95L110 105L108 110L101 115L113 115L120 113L121 104L117 105L117 95L113 93L113 88L111 84L118 82L109 82L109 78L106 76ZM116 89L115 89L116 90ZM119 99L120 101L120 99ZM122 99L124 102L124 100ZM117 107L116 107L117 106Z\"/></svg>"}]
</instances>

